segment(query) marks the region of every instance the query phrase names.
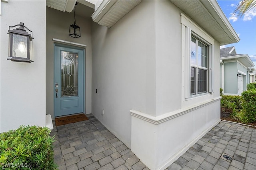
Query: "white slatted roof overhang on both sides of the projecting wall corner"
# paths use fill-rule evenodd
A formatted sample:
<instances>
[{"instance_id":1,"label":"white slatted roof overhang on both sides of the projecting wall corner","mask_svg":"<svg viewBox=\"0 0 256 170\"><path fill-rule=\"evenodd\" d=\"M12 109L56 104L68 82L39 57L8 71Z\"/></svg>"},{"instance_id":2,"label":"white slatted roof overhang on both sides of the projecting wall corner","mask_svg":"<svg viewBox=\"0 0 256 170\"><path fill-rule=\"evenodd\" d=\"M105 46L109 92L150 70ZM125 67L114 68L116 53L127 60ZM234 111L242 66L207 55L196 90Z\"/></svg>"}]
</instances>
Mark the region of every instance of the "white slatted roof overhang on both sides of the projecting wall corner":
<instances>
[{"instance_id":1,"label":"white slatted roof overhang on both sides of the projecting wall corner","mask_svg":"<svg viewBox=\"0 0 256 170\"><path fill-rule=\"evenodd\" d=\"M220 45L240 41L236 31L222 12L216 0L170 1L214 37ZM92 20L100 25L112 27L140 2L141 0L98 1L95 5L95 12L92 14Z\"/></svg>"}]
</instances>

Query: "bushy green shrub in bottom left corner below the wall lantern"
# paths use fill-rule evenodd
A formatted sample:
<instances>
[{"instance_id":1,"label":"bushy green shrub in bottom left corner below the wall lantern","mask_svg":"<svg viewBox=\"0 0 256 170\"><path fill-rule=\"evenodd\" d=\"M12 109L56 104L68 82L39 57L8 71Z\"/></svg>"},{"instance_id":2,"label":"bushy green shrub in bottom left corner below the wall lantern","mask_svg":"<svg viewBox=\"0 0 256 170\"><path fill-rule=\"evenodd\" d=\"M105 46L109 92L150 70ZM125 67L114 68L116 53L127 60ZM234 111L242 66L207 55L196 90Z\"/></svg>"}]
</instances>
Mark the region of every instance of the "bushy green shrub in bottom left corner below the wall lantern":
<instances>
[{"instance_id":1,"label":"bushy green shrub in bottom left corner below the wall lantern","mask_svg":"<svg viewBox=\"0 0 256 170\"><path fill-rule=\"evenodd\" d=\"M52 143L47 127L20 126L0 133L0 169L55 170Z\"/></svg>"}]
</instances>

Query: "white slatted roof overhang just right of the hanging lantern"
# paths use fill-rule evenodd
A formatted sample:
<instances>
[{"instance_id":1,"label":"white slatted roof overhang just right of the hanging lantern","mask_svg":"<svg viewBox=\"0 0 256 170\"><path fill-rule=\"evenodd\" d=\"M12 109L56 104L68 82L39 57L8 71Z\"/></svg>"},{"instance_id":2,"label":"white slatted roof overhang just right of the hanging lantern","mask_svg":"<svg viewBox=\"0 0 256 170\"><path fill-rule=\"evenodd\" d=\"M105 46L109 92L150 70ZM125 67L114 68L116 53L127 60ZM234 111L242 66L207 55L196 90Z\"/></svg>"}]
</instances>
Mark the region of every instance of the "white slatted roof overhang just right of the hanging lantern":
<instances>
[{"instance_id":1,"label":"white slatted roof overhang just right of the hanging lantern","mask_svg":"<svg viewBox=\"0 0 256 170\"><path fill-rule=\"evenodd\" d=\"M92 14L92 20L100 25L112 27L117 21L123 18L141 0L105 0L102 1L95 12ZM97 5L97 4L96 4Z\"/></svg>"}]
</instances>

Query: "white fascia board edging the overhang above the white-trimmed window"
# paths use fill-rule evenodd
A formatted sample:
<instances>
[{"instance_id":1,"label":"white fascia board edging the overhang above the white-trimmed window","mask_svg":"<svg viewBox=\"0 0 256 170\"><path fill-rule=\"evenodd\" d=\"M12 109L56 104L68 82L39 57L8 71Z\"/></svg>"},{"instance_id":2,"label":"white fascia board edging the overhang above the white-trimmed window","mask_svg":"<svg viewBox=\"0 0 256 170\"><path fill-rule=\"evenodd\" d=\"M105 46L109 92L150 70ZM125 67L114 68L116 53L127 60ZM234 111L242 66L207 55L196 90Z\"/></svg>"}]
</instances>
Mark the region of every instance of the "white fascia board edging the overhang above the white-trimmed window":
<instances>
[{"instance_id":1,"label":"white fascia board edging the overhang above the white-trimmed window","mask_svg":"<svg viewBox=\"0 0 256 170\"><path fill-rule=\"evenodd\" d=\"M210 14L214 17L216 22L220 25L232 43L237 43L240 41L236 31L232 27L231 23L226 18L225 14L221 10L218 2L216 0L200 0L202 4L206 7L206 9L210 12ZM226 43L228 44L228 43ZM224 44L221 44L224 45Z\"/></svg>"}]
</instances>

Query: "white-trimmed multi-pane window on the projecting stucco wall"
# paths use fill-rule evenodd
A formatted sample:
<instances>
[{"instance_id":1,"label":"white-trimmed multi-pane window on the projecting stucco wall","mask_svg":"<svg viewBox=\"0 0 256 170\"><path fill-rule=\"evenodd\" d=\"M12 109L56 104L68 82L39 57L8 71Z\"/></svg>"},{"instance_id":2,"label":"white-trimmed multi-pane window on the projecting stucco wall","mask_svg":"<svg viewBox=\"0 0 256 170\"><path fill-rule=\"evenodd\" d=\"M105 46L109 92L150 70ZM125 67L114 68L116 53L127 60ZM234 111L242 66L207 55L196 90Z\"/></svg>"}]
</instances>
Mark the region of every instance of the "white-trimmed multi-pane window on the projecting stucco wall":
<instances>
[{"instance_id":1,"label":"white-trimmed multi-pane window on the projecting stucco wall","mask_svg":"<svg viewBox=\"0 0 256 170\"><path fill-rule=\"evenodd\" d=\"M214 39L181 14L185 98L213 92Z\"/></svg>"}]
</instances>

